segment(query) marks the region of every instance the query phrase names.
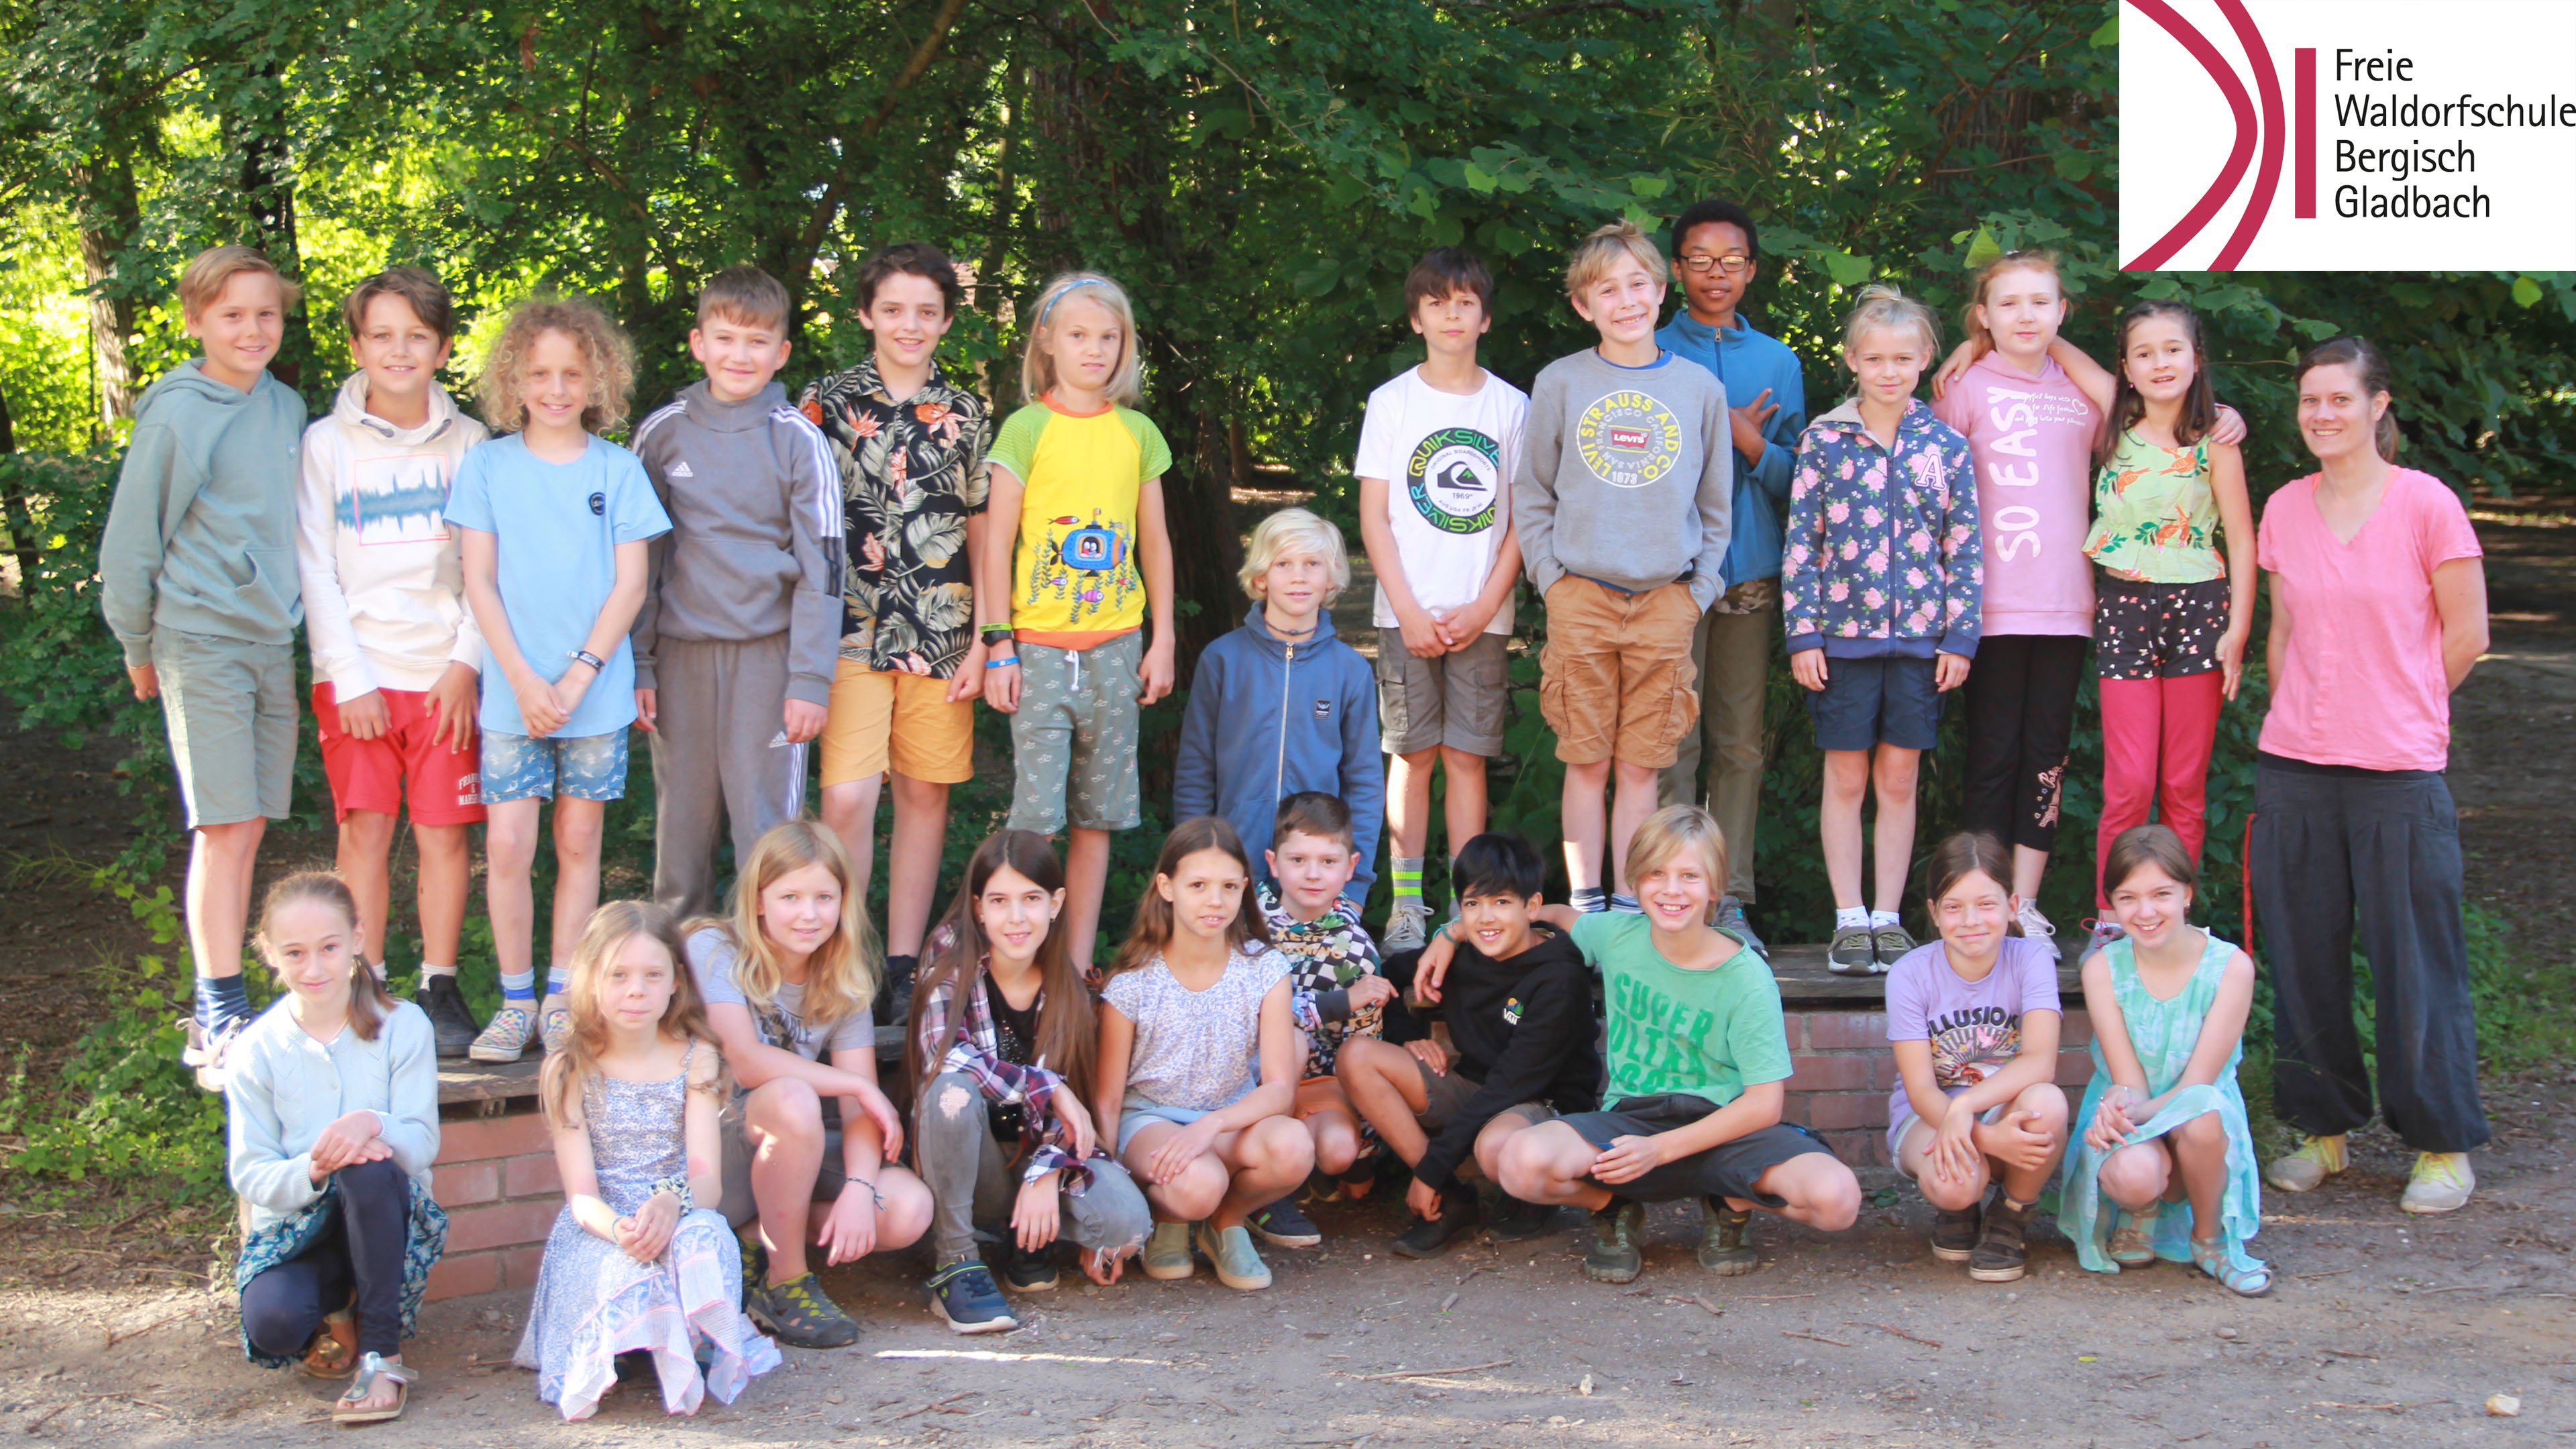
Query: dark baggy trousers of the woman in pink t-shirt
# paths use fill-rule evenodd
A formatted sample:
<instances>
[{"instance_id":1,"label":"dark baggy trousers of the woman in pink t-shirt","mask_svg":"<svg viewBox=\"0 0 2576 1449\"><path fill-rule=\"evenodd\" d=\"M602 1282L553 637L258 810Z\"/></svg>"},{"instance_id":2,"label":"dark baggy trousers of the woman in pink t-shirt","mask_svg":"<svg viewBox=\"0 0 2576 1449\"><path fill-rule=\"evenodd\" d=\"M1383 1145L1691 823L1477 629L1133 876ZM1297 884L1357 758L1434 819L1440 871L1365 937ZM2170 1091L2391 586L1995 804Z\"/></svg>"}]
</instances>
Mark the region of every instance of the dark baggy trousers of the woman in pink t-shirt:
<instances>
[{"instance_id":1,"label":"dark baggy trousers of the woman in pink t-shirt","mask_svg":"<svg viewBox=\"0 0 2576 1449\"><path fill-rule=\"evenodd\" d=\"M2378 993L2380 1111L2416 1152L2488 1140L2460 915L2460 812L2434 771L2262 755L2254 908L2272 967L2272 1106L2300 1132L2370 1122L2352 923Z\"/></svg>"}]
</instances>

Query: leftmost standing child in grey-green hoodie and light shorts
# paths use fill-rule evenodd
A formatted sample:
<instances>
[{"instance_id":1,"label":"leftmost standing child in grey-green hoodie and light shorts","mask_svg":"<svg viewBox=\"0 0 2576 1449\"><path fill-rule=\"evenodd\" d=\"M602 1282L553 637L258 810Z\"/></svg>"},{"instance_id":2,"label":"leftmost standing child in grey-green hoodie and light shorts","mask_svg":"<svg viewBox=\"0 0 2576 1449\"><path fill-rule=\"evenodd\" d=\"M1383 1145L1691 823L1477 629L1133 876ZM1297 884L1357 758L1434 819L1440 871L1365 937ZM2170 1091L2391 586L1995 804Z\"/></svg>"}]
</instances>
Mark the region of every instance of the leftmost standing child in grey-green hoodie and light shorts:
<instances>
[{"instance_id":1,"label":"leftmost standing child in grey-green hoodie and light shorts","mask_svg":"<svg viewBox=\"0 0 2576 1449\"><path fill-rule=\"evenodd\" d=\"M222 1085L250 1024L242 933L250 866L286 820L296 766L296 477L304 400L268 376L296 286L250 248L198 253L178 278L204 345L134 407L98 541L98 606L134 699L160 699L188 810L188 1065ZM381 949L381 946L376 946Z\"/></svg>"}]
</instances>

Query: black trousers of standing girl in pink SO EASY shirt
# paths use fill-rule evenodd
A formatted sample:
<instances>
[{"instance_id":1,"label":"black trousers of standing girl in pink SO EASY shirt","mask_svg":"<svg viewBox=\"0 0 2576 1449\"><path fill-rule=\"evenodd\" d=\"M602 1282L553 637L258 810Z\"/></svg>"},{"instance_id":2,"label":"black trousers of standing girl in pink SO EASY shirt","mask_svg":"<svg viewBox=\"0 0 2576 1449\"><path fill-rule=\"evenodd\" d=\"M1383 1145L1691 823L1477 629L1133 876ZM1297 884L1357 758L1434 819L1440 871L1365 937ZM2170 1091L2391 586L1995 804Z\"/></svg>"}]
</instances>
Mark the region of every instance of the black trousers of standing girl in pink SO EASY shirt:
<instances>
[{"instance_id":1,"label":"black trousers of standing girl in pink SO EASY shirt","mask_svg":"<svg viewBox=\"0 0 2576 1449\"><path fill-rule=\"evenodd\" d=\"M1989 634L1968 670L1968 781L1960 822L2053 851L2066 745L2076 732L2084 634Z\"/></svg>"}]
</instances>

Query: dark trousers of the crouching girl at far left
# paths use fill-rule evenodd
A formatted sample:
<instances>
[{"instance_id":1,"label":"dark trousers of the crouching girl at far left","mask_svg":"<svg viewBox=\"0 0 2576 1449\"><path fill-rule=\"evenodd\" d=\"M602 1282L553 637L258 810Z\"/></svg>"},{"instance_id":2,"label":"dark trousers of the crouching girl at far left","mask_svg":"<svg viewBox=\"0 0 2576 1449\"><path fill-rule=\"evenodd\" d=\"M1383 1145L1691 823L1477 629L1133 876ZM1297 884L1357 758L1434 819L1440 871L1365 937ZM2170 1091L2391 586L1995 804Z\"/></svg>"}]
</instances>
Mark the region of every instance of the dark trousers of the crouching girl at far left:
<instances>
[{"instance_id":1,"label":"dark trousers of the crouching girl at far left","mask_svg":"<svg viewBox=\"0 0 2576 1449\"><path fill-rule=\"evenodd\" d=\"M358 1351L402 1351L402 1253L412 1230L412 1178L392 1158L332 1173L340 1207L301 1253L242 1284L242 1328L260 1354L296 1359L322 1315L358 1294Z\"/></svg>"}]
</instances>

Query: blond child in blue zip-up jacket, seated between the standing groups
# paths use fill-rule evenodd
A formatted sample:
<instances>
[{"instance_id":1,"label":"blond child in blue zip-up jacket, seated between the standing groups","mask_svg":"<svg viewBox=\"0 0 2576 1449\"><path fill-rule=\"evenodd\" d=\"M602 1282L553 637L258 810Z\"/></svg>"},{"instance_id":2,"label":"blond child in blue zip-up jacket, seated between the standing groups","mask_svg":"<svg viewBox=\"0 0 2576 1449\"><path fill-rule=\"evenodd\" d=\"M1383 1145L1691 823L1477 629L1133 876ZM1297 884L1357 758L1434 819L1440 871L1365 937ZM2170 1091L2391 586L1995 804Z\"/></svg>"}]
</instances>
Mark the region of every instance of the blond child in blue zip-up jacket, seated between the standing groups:
<instances>
[{"instance_id":1,"label":"blond child in blue zip-up jacket, seated between the standing groups","mask_svg":"<svg viewBox=\"0 0 2576 1449\"><path fill-rule=\"evenodd\" d=\"M1244 552L1244 627L1208 645L1190 678L1172 763L1172 817L1224 815L1260 859L1280 802L1319 789L1350 804L1360 905L1376 879L1386 812L1378 678L1332 634L1332 596L1350 585L1342 531L1303 508L1262 518Z\"/></svg>"}]
</instances>

